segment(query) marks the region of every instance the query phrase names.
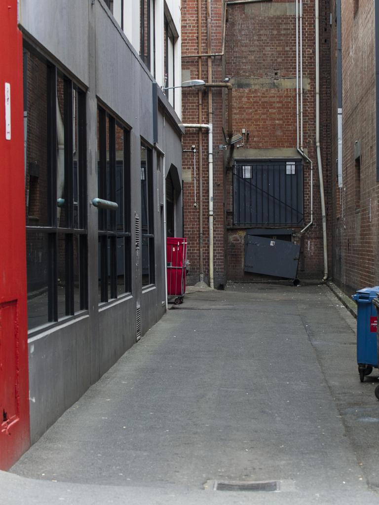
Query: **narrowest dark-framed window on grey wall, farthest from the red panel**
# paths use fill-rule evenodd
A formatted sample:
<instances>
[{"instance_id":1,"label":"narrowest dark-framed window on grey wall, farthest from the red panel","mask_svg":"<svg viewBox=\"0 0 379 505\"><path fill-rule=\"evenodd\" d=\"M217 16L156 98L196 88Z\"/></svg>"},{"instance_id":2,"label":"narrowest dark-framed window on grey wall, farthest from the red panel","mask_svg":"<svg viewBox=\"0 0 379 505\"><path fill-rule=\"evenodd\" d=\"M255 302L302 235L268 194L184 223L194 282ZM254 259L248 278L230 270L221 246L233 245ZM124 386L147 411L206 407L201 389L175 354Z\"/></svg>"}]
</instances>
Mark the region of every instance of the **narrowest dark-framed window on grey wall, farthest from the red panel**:
<instances>
[{"instance_id":1,"label":"narrowest dark-framed window on grey wall, farthest from the red panel","mask_svg":"<svg viewBox=\"0 0 379 505\"><path fill-rule=\"evenodd\" d=\"M155 283L153 154L141 144L142 285Z\"/></svg>"}]
</instances>

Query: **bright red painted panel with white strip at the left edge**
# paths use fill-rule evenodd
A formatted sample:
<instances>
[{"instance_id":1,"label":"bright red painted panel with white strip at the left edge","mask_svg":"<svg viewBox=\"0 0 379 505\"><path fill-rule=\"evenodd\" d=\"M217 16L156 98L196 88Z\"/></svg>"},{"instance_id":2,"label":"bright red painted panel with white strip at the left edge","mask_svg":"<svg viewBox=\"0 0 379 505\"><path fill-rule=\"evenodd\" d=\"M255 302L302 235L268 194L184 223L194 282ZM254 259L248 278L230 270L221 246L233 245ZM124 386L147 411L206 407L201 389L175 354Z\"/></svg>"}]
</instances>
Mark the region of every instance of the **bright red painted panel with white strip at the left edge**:
<instances>
[{"instance_id":1,"label":"bright red painted panel with white strip at the left edge","mask_svg":"<svg viewBox=\"0 0 379 505\"><path fill-rule=\"evenodd\" d=\"M0 2L0 469L29 447L22 35Z\"/></svg>"}]
</instances>

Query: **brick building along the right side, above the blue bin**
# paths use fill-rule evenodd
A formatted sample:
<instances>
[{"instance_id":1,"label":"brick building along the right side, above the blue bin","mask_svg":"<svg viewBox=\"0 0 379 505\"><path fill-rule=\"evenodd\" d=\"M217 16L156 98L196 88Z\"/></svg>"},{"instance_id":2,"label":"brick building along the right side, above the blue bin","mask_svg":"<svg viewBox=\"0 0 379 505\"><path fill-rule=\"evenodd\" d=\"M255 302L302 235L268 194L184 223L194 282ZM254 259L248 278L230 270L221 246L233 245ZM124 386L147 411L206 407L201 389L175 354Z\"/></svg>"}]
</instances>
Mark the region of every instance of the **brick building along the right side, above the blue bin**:
<instances>
[{"instance_id":1,"label":"brick building along the right side, above the blue bin","mask_svg":"<svg viewBox=\"0 0 379 505\"><path fill-rule=\"evenodd\" d=\"M379 283L379 267L375 261L379 239L376 4L368 0L331 3L331 159L337 160L331 177L331 260L335 282L349 293Z\"/></svg>"}]
</instances>

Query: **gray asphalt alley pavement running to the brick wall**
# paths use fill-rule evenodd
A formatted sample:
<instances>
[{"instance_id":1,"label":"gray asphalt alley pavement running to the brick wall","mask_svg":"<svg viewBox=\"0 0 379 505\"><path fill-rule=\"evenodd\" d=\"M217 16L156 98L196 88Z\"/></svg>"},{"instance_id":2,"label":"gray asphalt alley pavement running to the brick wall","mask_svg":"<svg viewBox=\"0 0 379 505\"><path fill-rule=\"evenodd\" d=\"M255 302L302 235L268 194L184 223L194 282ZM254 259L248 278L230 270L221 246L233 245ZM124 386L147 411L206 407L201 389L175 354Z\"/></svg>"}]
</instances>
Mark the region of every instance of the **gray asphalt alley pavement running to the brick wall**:
<instances>
[{"instance_id":1,"label":"gray asphalt alley pavement running to the brick wall","mask_svg":"<svg viewBox=\"0 0 379 505\"><path fill-rule=\"evenodd\" d=\"M356 321L326 286L235 284L171 307L11 469L21 477L0 473L7 496L378 500L377 371L360 383ZM278 481L279 491L217 491L215 481Z\"/></svg>"}]
</instances>

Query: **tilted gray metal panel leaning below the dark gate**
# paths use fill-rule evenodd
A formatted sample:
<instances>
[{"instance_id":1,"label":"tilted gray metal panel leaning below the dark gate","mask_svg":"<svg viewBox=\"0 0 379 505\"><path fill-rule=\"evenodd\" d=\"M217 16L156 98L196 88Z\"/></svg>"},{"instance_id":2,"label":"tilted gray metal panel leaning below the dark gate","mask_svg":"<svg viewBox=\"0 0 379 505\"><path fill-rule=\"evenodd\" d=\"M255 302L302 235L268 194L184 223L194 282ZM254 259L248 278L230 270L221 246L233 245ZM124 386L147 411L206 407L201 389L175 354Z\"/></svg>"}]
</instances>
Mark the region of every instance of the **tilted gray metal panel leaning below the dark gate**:
<instances>
[{"instance_id":1,"label":"tilted gray metal panel leaning below the dark gate","mask_svg":"<svg viewBox=\"0 0 379 505\"><path fill-rule=\"evenodd\" d=\"M245 272L295 279L299 252L292 242L246 235Z\"/></svg>"}]
</instances>

